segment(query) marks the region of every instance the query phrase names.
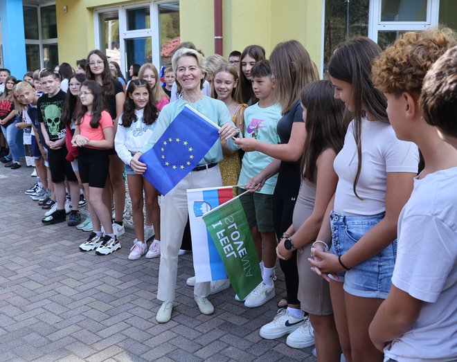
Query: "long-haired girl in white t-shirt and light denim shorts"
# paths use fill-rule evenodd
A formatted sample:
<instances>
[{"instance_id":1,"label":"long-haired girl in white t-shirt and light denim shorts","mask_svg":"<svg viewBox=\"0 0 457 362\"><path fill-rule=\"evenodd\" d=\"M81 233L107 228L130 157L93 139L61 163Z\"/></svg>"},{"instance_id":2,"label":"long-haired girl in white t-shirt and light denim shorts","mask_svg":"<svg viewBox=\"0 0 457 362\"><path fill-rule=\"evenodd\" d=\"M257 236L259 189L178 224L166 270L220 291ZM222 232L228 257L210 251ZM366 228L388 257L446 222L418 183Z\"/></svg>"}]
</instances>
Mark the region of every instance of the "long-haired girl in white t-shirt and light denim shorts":
<instances>
[{"instance_id":1,"label":"long-haired girl in white t-shirt and light denim shorts","mask_svg":"<svg viewBox=\"0 0 457 362\"><path fill-rule=\"evenodd\" d=\"M334 161L339 181L328 207L330 223L323 223L317 238L331 239L332 247L330 253L312 248L310 262L330 281L346 361L383 360L368 327L391 288L398 215L419 162L418 148L395 137L386 98L371 82L370 64L380 52L372 40L357 37L341 44L329 64L334 96L354 119Z\"/></svg>"}]
</instances>

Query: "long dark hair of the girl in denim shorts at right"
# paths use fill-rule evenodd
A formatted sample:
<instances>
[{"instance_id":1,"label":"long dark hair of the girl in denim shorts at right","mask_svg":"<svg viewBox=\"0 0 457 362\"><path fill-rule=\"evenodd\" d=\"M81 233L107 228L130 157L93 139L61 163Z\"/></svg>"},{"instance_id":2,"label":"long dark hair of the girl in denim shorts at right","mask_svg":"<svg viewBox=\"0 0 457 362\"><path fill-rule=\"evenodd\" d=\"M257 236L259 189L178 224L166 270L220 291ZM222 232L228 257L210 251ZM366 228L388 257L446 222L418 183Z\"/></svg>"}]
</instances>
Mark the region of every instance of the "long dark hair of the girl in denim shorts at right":
<instances>
[{"instance_id":1,"label":"long dark hair of the girl in denim shorts at right","mask_svg":"<svg viewBox=\"0 0 457 362\"><path fill-rule=\"evenodd\" d=\"M357 174L355 175L352 189L356 197L357 183L361 172L361 120L366 112L373 115L376 120L389 123L384 94L375 89L371 82L371 66L373 60L381 53L382 49L368 37L355 37L349 42L339 44L328 64L328 73L332 78L343 80L352 85L354 94L354 131L357 144Z\"/></svg>"}]
</instances>

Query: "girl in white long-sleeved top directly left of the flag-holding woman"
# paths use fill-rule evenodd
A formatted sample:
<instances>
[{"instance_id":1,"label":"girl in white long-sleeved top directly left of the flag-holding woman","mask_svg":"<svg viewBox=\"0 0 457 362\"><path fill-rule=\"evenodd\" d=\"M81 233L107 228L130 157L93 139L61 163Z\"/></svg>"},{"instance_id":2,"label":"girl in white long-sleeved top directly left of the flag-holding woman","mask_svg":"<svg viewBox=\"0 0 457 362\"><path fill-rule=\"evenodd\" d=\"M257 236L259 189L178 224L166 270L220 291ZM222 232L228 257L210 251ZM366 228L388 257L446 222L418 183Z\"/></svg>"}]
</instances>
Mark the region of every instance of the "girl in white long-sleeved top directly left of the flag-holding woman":
<instances>
[{"instance_id":1,"label":"girl in white long-sleeved top directly left of the flag-holding woman","mask_svg":"<svg viewBox=\"0 0 457 362\"><path fill-rule=\"evenodd\" d=\"M114 138L114 147L119 158L125 163L125 173L132 199L132 217L136 239L130 249L129 260L137 260L146 253L146 242L154 235L146 257L160 255L160 207L159 193L142 174L136 174L130 162L136 152L149 141L156 127L159 110L154 105L152 90L146 80L135 79L129 82L123 114L120 115L118 132ZM146 201L146 224L143 215L143 190ZM154 228L152 227L154 226Z\"/></svg>"}]
</instances>

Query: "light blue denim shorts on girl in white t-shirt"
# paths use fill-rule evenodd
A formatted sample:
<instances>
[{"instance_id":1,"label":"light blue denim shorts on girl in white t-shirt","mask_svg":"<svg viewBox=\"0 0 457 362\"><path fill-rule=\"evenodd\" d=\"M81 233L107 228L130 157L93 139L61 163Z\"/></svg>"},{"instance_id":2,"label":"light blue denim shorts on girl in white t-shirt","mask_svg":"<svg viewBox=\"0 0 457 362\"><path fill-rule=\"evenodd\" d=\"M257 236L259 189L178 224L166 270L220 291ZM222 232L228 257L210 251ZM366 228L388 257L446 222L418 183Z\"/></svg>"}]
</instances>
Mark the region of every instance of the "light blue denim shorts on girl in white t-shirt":
<instances>
[{"instance_id":1,"label":"light blue denim shorts on girl in white t-shirt","mask_svg":"<svg viewBox=\"0 0 457 362\"><path fill-rule=\"evenodd\" d=\"M343 255L368 230L384 218L382 212L373 216L341 215L332 211L332 247L330 252ZM344 282L346 293L363 298L386 299L391 289L393 266L397 257L397 240L393 240L381 253L370 257L352 267L349 271L339 273L339 280Z\"/></svg>"}]
</instances>

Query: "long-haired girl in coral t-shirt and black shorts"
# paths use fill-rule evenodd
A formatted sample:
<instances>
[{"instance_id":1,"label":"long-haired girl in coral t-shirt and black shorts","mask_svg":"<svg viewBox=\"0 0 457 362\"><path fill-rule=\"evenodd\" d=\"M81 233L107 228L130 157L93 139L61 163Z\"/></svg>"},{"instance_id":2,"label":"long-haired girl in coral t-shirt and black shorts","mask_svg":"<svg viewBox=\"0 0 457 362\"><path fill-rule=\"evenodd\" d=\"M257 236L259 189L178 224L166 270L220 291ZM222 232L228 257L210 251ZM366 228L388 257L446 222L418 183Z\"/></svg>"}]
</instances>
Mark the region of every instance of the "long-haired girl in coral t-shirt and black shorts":
<instances>
[{"instance_id":1,"label":"long-haired girl in coral t-shirt and black shorts","mask_svg":"<svg viewBox=\"0 0 457 362\"><path fill-rule=\"evenodd\" d=\"M78 147L78 168L93 223L93 232L80 245L80 251L95 249L96 254L107 255L120 249L111 225L111 212L102 201L109 170L108 150L114 144L113 120L104 110L103 89L96 81L85 80L78 96L82 106L75 115L71 144Z\"/></svg>"}]
</instances>

